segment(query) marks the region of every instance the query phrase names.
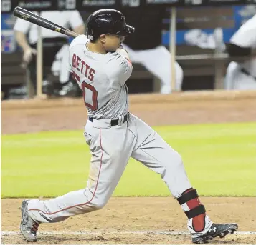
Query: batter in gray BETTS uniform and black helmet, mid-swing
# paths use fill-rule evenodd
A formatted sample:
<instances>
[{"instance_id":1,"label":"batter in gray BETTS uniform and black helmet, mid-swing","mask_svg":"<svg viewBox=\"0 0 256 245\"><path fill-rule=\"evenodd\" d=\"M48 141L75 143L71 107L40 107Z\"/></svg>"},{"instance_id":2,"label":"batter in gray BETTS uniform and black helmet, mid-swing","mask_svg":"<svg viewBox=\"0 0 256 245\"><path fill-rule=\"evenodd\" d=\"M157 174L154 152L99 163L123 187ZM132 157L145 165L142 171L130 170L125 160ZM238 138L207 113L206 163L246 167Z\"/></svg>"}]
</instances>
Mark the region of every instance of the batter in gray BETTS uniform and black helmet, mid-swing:
<instances>
[{"instance_id":1,"label":"batter in gray BETTS uniform and black helmet, mid-swing","mask_svg":"<svg viewBox=\"0 0 256 245\"><path fill-rule=\"evenodd\" d=\"M87 36L77 36L70 44L70 71L82 89L88 111L84 136L92 155L89 179L85 189L55 199L24 200L20 230L27 241L37 240L40 223L64 221L103 208L130 157L161 174L188 217L194 243L237 230L237 224L212 223L186 176L181 156L150 126L129 113L125 81L133 66L121 43L133 31L122 13L101 9L87 19Z\"/></svg>"}]
</instances>

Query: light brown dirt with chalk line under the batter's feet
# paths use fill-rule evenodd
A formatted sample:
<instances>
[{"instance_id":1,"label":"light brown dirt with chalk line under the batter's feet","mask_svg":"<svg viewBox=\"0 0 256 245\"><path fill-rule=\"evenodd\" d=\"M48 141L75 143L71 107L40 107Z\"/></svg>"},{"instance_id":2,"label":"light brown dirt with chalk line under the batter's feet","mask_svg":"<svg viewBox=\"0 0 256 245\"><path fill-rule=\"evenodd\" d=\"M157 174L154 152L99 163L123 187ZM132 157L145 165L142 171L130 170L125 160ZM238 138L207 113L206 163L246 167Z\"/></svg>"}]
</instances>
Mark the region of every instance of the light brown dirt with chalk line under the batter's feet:
<instances>
[{"instance_id":1,"label":"light brown dirt with chalk line under the batter's feet","mask_svg":"<svg viewBox=\"0 0 256 245\"><path fill-rule=\"evenodd\" d=\"M255 231L255 197L202 197L207 214L216 222L237 222L239 231ZM2 199L3 244L24 244L19 231L22 199ZM186 216L172 197L113 197L100 211L41 224L36 244L191 244ZM151 232L146 232L151 231ZM169 234L159 234L166 231ZM179 231L179 234L177 232ZM62 234L64 232L64 234ZM55 234L54 234L55 233ZM233 234L212 244L255 244L256 234Z\"/></svg>"}]
</instances>

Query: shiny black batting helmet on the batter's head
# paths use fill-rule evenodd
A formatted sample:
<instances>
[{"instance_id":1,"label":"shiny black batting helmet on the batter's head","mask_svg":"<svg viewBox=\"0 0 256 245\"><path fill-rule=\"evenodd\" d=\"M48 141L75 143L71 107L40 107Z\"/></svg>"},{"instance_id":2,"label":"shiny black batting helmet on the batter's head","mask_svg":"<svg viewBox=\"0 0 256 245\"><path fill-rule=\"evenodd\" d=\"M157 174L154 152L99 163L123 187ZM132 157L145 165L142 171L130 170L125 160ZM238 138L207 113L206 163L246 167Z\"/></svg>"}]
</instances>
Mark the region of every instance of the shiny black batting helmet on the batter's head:
<instances>
[{"instance_id":1,"label":"shiny black batting helmet on the batter's head","mask_svg":"<svg viewBox=\"0 0 256 245\"><path fill-rule=\"evenodd\" d=\"M125 16L115 9L100 9L93 12L87 19L87 37L96 40L101 34L129 36L134 27L125 22Z\"/></svg>"}]
</instances>

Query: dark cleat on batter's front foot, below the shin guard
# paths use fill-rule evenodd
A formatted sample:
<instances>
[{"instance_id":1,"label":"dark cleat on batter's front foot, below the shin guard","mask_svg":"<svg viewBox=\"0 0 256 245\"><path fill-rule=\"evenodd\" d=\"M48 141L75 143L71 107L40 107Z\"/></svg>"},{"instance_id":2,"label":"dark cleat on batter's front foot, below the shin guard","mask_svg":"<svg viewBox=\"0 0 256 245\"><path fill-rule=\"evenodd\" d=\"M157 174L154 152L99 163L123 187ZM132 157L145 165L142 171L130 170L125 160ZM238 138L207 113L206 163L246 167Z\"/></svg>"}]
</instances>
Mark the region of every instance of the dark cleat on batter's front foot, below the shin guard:
<instances>
[{"instance_id":1,"label":"dark cleat on batter's front foot, below the shin guard","mask_svg":"<svg viewBox=\"0 0 256 245\"><path fill-rule=\"evenodd\" d=\"M208 240L212 240L214 237L223 238L227 234L233 234L234 231L237 231L238 226L235 223L231 224L212 224L209 231L202 236L193 237L192 241L194 244L204 244Z\"/></svg>"}]
</instances>

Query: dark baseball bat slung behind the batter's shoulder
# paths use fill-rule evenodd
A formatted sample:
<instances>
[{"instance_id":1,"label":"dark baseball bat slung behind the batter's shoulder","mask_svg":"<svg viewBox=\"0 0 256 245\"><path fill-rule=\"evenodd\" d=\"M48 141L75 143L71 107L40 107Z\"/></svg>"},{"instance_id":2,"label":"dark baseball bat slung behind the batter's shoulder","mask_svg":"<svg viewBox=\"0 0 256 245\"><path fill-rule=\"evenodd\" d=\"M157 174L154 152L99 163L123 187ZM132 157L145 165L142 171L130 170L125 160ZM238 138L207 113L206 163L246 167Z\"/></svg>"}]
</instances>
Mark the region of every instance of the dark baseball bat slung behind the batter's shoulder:
<instances>
[{"instance_id":1,"label":"dark baseball bat slung behind the batter's shoulder","mask_svg":"<svg viewBox=\"0 0 256 245\"><path fill-rule=\"evenodd\" d=\"M37 26L42 26L46 29L60 32L67 36L76 37L79 35L79 34L75 33L74 31L70 31L69 29L59 26L51 21L48 21L47 19L42 18L41 16L39 16L37 14L33 14L32 12L27 11L26 9L22 9L20 7L16 7L14 9L14 16L24 19L25 21L29 21L33 24L36 24Z\"/></svg>"}]
</instances>

